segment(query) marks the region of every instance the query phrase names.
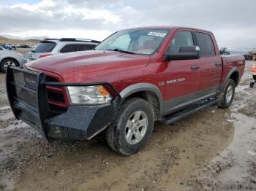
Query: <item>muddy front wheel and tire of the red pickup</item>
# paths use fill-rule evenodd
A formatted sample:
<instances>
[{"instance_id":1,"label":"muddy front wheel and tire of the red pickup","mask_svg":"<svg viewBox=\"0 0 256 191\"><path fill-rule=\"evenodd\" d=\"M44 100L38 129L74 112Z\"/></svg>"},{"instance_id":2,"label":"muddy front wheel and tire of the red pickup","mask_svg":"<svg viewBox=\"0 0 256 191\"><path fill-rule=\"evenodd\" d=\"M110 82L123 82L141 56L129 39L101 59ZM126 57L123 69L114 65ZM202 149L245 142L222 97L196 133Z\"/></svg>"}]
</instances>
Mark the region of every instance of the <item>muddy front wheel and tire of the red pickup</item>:
<instances>
[{"instance_id":1,"label":"muddy front wheel and tire of the red pickup","mask_svg":"<svg viewBox=\"0 0 256 191\"><path fill-rule=\"evenodd\" d=\"M106 131L108 145L122 155L135 154L146 144L153 127L151 104L141 98L131 98L124 101L116 120Z\"/></svg>"}]
</instances>

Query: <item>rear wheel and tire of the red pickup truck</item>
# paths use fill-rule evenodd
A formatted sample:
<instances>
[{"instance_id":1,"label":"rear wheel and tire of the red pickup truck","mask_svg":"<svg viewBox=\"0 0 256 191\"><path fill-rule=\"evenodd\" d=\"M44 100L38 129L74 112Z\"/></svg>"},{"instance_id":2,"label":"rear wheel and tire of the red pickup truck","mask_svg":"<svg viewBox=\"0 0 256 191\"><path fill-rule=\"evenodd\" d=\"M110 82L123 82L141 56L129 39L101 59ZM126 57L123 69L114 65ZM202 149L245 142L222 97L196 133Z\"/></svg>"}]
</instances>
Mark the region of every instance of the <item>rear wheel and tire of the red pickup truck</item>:
<instances>
[{"instance_id":1,"label":"rear wheel and tire of the red pickup truck","mask_svg":"<svg viewBox=\"0 0 256 191\"><path fill-rule=\"evenodd\" d=\"M220 101L217 102L217 106L219 108L227 108L232 104L234 95L235 95L235 82L233 79L228 79L225 87L223 88L223 92L221 93Z\"/></svg>"}]
</instances>

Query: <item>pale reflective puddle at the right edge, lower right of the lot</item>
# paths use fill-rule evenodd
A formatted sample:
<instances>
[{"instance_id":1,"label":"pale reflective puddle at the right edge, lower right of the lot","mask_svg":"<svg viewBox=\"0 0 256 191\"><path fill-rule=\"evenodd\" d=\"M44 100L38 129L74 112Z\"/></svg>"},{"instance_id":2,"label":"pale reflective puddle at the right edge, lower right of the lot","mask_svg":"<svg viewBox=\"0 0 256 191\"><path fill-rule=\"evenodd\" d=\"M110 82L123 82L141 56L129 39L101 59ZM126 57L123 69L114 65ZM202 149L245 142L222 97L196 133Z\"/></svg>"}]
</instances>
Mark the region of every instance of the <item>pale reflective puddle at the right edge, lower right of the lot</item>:
<instances>
[{"instance_id":1,"label":"pale reflective puddle at the right edge, lower right of the lot","mask_svg":"<svg viewBox=\"0 0 256 191\"><path fill-rule=\"evenodd\" d=\"M232 153L235 162L233 168L228 168L218 179L222 182L243 182L250 176L250 163L256 162L256 119L238 113L233 113L231 116L236 119L234 139L213 162Z\"/></svg>"}]
</instances>

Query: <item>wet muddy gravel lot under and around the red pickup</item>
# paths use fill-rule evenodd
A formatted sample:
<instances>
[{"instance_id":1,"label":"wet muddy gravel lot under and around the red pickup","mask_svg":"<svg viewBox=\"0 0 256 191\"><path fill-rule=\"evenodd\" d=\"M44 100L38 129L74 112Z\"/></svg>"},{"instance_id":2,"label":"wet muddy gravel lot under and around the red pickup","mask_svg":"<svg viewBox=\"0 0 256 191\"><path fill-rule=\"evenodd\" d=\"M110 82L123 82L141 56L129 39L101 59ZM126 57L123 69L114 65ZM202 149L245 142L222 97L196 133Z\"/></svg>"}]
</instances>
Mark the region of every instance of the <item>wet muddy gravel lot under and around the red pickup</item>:
<instances>
[{"instance_id":1,"label":"wet muddy gravel lot under and around the red pickup","mask_svg":"<svg viewBox=\"0 0 256 191\"><path fill-rule=\"evenodd\" d=\"M0 190L256 190L256 87L249 67L230 109L154 125L141 152L105 141L54 141L15 120L0 74Z\"/></svg>"}]
</instances>

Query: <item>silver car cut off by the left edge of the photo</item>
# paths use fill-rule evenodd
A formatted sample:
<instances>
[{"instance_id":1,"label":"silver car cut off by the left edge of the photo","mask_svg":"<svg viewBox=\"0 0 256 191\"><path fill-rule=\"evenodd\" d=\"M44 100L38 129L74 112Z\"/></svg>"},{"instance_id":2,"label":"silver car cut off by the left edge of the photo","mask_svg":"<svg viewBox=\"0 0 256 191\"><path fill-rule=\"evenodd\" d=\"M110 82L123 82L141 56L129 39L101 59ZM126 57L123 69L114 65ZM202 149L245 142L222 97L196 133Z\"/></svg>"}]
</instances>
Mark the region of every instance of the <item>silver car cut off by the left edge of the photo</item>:
<instances>
[{"instance_id":1,"label":"silver car cut off by the left edge of the photo","mask_svg":"<svg viewBox=\"0 0 256 191\"><path fill-rule=\"evenodd\" d=\"M15 52L14 50L7 50L4 47L0 47L0 69L6 71L7 66L23 66L26 63L26 59L22 54Z\"/></svg>"}]
</instances>

